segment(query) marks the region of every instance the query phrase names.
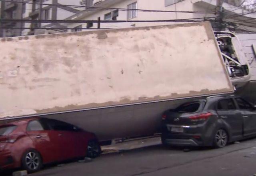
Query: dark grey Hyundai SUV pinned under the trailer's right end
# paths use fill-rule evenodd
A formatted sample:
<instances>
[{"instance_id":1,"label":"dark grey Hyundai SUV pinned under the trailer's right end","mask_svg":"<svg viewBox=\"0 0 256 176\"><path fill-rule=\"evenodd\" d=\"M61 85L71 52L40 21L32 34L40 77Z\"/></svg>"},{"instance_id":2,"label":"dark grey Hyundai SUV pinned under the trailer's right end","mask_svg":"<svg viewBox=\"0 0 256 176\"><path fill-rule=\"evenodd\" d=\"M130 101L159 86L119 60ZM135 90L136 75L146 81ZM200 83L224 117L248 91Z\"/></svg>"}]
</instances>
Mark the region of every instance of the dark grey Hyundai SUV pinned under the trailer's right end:
<instances>
[{"instance_id":1,"label":"dark grey Hyundai SUV pinned under the trailer's right end","mask_svg":"<svg viewBox=\"0 0 256 176\"><path fill-rule=\"evenodd\" d=\"M256 136L256 108L241 97L210 96L162 116L164 145L222 148L252 136Z\"/></svg>"}]
</instances>

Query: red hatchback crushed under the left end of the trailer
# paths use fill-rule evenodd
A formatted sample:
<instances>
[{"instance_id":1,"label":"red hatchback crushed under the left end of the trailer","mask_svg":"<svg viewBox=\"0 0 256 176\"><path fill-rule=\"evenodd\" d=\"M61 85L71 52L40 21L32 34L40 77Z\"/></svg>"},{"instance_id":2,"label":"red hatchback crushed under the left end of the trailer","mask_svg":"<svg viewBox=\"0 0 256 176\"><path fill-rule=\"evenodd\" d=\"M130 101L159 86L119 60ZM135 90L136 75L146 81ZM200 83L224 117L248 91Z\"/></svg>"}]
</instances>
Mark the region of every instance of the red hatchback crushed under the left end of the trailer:
<instances>
[{"instance_id":1,"label":"red hatchback crushed under the left end of the trailer","mask_svg":"<svg viewBox=\"0 0 256 176\"><path fill-rule=\"evenodd\" d=\"M30 118L0 126L0 168L36 172L43 164L101 153L93 133L48 118Z\"/></svg>"}]
</instances>

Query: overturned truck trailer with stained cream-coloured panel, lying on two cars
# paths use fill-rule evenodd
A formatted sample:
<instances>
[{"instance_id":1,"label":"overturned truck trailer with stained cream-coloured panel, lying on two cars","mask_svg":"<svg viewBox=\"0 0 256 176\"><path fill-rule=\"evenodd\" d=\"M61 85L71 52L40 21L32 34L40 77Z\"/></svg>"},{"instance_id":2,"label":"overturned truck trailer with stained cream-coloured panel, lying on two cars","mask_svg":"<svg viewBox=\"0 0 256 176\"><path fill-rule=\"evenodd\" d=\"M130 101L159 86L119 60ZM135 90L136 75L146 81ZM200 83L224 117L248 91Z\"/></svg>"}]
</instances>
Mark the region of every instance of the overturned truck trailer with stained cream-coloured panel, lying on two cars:
<instances>
[{"instance_id":1,"label":"overturned truck trailer with stained cream-coloured panel, lying on two cars","mask_svg":"<svg viewBox=\"0 0 256 176\"><path fill-rule=\"evenodd\" d=\"M2 38L0 48L2 120L55 118L100 140L153 134L177 102L234 91L208 22Z\"/></svg>"}]
</instances>

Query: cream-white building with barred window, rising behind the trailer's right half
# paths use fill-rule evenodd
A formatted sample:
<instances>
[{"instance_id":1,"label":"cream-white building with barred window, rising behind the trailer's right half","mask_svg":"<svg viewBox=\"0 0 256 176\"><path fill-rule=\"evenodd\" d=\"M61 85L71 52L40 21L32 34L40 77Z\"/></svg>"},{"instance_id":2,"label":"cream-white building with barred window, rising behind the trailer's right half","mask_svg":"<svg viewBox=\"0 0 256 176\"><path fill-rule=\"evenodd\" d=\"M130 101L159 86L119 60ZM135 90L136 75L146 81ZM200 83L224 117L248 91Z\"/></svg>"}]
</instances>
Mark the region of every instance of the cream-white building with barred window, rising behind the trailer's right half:
<instances>
[{"instance_id":1,"label":"cream-white building with barred window, rising behind the trailer's right half","mask_svg":"<svg viewBox=\"0 0 256 176\"><path fill-rule=\"evenodd\" d=\"M84 22L84 23L63 23L67 28L74 28L69 31L88 30L88 28L126 28L135 26L152 26L162 24L176 24L177 22L132 22L148 20L179 20L198 19L211 20L216 30L221 26L222 30L234 31L255 31L256 19L255 0L87 0L86 6L92 6L78 14L74 14L67 20L113 20L112 23ZM96 2L96 3L94 3ZM222 3L223 11L219 12L218 3ZM252 5L250 5L252 3ZM100 8L118 8L119 10L99 10ZM131 10L124 10L131 9ZM142 9L137 11L136 9ZM143 11L143 9L147 11ZM150 11L152 10L152 11ZM173 12L154 12L154 10ZM186 11L186 12L180 12ZM221 14L219 14L221 13ZM218 16L221 19L218 20ZM217 21L216 21L217 18ZM128 22L115 22L115 20L127 20ZM129 22L131 21L131 22ZM82 29L81 29L82 28ZM75 30L79 29L79 30Z\"/></svg>"}]
</instances>

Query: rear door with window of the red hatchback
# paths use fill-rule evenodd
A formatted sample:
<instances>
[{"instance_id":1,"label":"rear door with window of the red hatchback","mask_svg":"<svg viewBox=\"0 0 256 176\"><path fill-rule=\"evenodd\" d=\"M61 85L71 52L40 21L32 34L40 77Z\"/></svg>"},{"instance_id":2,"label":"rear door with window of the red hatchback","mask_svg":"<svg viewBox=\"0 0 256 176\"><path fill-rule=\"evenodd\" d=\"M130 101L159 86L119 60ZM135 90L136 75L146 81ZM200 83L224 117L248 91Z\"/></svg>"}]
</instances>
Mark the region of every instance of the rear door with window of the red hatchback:
<instances>
[{"instance_id":1,"label":"rear door with window of the red hatchback","mask_svg":"<svg viewBox=\"0 0 256 176\"><path fill-rule=\"evenodd\" d=\"M58 161L60 158L58 134L44 128L39 120L28 122L27 134L40 152L44 163Z\"/></svg>"}]
</instances>

